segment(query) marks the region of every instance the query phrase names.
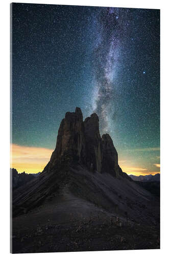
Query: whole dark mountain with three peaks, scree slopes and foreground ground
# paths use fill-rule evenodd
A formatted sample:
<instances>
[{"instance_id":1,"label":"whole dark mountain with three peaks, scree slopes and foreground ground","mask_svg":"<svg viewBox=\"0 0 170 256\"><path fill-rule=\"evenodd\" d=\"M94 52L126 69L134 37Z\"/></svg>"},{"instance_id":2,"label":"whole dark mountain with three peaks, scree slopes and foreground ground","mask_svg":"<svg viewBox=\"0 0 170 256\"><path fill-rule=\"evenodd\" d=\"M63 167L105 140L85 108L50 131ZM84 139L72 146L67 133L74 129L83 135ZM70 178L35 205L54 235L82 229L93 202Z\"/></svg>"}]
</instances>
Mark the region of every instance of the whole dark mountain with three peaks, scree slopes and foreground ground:
<instances>
[{"instance_id":1,"label":"whole dark mountain with three peaks, scree slopes and foreground ground","mask_svg":"<svg viewBox=\"0 0 170 256\"><path fill-rule=\"evenodd\" d=\"M142 182L143 183L143 182ZM99 118L66 113L43 172L13 190L12 252L159 248L159 198L118 165Z\"/></svg>"}]
</instances>

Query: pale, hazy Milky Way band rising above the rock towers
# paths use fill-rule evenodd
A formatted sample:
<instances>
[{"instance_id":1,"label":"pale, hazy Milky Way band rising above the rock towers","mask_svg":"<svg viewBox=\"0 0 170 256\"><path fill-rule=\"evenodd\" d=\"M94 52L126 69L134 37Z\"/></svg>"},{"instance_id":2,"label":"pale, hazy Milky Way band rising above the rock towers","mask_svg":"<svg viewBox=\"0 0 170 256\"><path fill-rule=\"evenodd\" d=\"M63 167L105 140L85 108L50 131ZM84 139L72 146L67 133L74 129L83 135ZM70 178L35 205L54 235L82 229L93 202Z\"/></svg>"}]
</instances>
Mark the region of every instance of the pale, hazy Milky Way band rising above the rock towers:
<instances>
[{"instance_id":1,"label":"pale, hazy Milky Way band rising above the rock towers","mask_svg":"<svg viewBox=\"0 0 170 256\"><path fill-rule=\"evenodd\" d=\"M109 132L109 118L114 115L114 75L119 56L120 27L114 8L103 9L98 16L99 41L94 49L93 111L101 120L101 132Z\"/></svg>"}]
</instances>

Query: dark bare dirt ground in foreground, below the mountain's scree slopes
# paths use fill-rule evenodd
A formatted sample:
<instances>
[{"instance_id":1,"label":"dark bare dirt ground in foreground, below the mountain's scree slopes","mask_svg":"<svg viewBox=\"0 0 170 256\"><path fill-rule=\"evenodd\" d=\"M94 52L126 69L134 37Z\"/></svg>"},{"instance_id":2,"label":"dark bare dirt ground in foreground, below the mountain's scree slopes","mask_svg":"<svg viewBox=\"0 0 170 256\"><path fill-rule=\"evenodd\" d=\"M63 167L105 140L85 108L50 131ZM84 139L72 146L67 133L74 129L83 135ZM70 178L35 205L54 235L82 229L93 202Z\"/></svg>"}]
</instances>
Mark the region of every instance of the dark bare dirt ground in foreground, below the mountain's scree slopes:
<instances>
[{"instance_id":1,"label":"dark bare dirt ground in foreground, below the mountain's scree slopes","mask_svg":"<svg viewBox=\"0 0 170 256\"><path fill-rule=\"evenodd\" d=\"M159 223L118 218L75 196L48 199L13 218L12 252L159 249Z\"/></svg>"}]
</instances>

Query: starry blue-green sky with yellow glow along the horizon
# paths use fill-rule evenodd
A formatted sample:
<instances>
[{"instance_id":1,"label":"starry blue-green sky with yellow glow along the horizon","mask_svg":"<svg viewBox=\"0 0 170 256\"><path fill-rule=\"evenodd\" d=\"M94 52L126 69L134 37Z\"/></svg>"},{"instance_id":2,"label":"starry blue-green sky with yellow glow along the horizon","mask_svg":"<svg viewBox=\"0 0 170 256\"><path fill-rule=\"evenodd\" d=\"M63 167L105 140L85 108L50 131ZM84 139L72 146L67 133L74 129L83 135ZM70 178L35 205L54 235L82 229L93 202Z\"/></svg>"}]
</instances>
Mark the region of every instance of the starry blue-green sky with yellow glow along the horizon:
<instances>
[{"instance_id":1,"label":"starry blue-green sky with yellow glow along the horizon","mask_svg":"<svg viewBox=\"0 0 170 256\"><path fill-rule=\"evenodd\" d=\"M12 4L11 15L12 166L41 171L79 106L99 115L125 172L159 173L160 11Z\"/></svg>"}]
</instances>

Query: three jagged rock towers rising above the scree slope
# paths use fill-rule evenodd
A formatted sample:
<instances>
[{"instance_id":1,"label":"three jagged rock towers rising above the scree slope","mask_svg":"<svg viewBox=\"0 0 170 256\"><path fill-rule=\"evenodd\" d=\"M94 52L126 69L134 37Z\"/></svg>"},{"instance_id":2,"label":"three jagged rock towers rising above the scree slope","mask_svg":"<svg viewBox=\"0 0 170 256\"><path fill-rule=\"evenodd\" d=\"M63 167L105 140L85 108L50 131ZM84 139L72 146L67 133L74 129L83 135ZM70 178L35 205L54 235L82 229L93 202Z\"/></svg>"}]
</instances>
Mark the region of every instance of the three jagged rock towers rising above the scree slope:
<instances>
[{"instance_id":1,"label":"three jagged rock towers rising above the scree slope","mask_svg":"<svg viewBox=\"0 0 170 256\"><path fill-rule=\"evenodd\" d=\"M67 112L62 119L56 148L43 172L70 164L86 166L90 172L110 173L114 177L129 176L118 165L118 156L109 134L101 138L99 117L93 113L83 121L80 108Z\"/></svg>"}]
</instances>

